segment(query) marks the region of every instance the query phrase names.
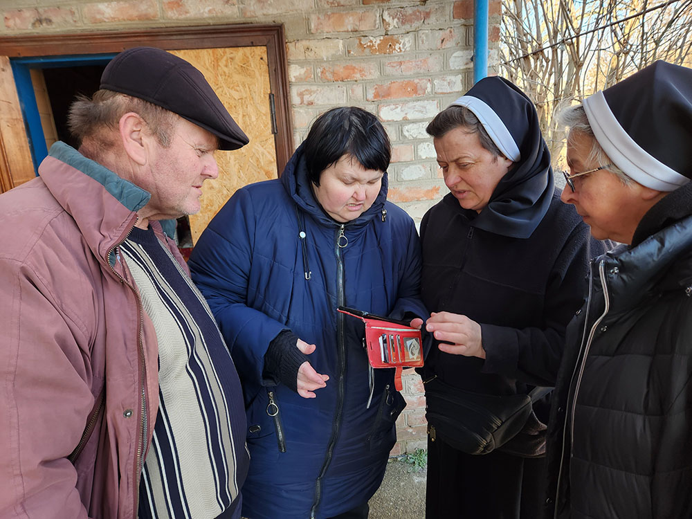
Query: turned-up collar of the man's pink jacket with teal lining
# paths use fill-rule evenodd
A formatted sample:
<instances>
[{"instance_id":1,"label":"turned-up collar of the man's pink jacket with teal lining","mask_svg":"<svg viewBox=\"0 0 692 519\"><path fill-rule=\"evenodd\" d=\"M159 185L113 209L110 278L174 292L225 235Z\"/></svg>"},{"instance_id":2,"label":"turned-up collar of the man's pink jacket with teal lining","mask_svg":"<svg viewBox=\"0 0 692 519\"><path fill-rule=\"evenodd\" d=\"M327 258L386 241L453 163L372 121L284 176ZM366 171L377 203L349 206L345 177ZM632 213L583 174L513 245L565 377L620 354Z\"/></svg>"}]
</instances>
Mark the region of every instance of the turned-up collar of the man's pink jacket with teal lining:
<instances>
[{"instance_id":1,"label":"turned-up collar of the man's pink jacket with teal lining","mask_svg":"<svg viewBox=\"0 0 692 519\"><path fill-rule=\"evenodd\" d=\"M151 195L58 141L39 166L53 197L73 217L93 254L109 253L130 233Z\"/></svg>"}]
</instances>

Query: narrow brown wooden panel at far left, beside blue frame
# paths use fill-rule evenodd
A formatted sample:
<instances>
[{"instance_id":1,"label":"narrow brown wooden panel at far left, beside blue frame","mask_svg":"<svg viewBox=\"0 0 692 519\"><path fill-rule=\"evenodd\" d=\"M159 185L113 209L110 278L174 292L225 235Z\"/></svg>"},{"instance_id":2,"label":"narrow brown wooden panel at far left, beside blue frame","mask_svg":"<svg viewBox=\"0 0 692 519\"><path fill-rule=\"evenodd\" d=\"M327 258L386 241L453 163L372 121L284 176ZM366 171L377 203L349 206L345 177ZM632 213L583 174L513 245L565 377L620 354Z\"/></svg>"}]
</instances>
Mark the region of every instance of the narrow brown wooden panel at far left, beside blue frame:
<instances>
[{"instance_id":1,"label":"narrow brown wooden panel at far left, beside blue frame","mask_svg":"<svg viewBox=\"0 0 692 519\"><path fill-rule=\"evenodd\" d=\"M35 176L10 59L0 56L0 192Z\"/></svg>"}]
</instances>

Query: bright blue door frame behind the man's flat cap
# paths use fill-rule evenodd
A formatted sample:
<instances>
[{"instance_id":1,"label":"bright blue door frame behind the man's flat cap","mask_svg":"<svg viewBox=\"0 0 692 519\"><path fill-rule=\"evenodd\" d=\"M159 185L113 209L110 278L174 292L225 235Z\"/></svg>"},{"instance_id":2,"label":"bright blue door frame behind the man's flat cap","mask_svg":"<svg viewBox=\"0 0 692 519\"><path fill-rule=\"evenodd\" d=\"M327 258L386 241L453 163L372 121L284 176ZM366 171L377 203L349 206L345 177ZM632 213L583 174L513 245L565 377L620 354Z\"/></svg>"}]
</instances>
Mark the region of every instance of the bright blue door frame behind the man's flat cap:
<instances>
[{"instance_id":1,"label":"bright blue door frame behind the man's flat cap","mask_svg":"<svg viewBox=\"0 0 692 519\"><path fill-rule=\"evenodd\" d=\"M105 66L115 55L116 53L10 58L35 172L38 172L39 164L48 155L48 149L46 148L46 136L41 125L41 116L36 103L34 86L31 82L31 69L60 69L88 65Z\"/></svg>"}]
</instances>

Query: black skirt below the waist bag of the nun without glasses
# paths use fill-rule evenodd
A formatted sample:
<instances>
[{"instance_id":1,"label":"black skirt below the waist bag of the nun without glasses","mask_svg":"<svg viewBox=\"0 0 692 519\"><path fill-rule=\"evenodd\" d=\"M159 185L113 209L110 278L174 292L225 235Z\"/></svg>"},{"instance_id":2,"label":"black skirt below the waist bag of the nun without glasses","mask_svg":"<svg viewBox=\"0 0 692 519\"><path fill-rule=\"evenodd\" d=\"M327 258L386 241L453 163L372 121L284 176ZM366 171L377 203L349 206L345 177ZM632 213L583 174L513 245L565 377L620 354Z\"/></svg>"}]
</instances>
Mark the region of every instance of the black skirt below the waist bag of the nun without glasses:
<instances>
[{"instance_id":1,"label":"black skirt below the waist bag of the nun without glasses","mask_svg":"<svg viewBox=\"0 0 692 519\"><path fill-rule=\"evenodd\" d=\"M426 519L536 519L545 501L545 457L470 455L428 437Z\"/></svg>"}]
</instances>

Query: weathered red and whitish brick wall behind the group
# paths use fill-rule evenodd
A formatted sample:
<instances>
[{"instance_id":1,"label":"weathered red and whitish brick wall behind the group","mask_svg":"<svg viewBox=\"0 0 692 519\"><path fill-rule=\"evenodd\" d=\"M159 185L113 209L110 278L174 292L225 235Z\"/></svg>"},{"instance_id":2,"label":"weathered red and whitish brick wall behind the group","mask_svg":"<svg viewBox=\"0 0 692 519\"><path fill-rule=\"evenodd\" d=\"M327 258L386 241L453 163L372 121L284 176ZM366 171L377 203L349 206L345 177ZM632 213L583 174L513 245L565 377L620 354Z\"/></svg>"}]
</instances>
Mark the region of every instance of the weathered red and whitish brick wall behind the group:
<instances>
[{"instance_id":1,"label":"weathered red and whitish brick wall behind the group","mask_svg":"<svg viewBox=\"0 0 692 519\"><path fill-rule=\"evenodd\" d=\"M473 82L473 0L2 0L0 35L208 24L284 24L296 145L335 105L376 113L393 145L389 199L416 221L446 188L425 127ZM500 0L490 3L498 60ZM419 377L393 454L424 446ZM423 406L423 407L421 407Z\"/></svg>"}]
</instances>

